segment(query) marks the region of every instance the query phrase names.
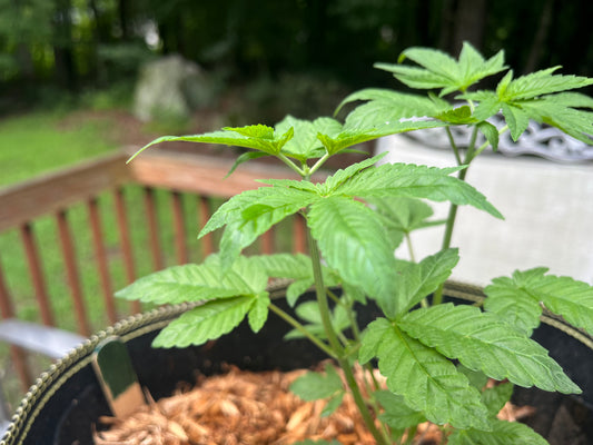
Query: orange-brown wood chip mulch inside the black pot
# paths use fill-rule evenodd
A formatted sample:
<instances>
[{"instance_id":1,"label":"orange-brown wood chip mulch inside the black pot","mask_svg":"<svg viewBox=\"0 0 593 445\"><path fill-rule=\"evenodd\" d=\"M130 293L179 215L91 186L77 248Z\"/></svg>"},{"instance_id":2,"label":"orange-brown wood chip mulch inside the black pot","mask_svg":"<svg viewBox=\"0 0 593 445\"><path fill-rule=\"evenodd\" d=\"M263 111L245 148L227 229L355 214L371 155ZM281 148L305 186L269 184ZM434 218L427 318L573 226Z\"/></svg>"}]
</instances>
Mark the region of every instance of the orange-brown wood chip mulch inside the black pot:
<instances>
[{"instance_id":1,"label":"orange-brown wood chip mulch inside the black pot","mask_svg":"<svg viewBox=\"0 0 593 445\"><path fill-rule=\"evenodd\" d=\"M228 374L202 377L191 389L150 400L136 414L102 417L107 431L95 433L96 445L287 445L305 439L337 439L343 445L373 445L352 397L330 416L320 417L324 400L304 402L288 387L306 370ZM367 376L368 377L368 376ZM365 378L359 372L357 379ZM513 408L503 412L514 419ZM522 413L520 413L522 414ZM439 443L432 424L418 427L415 444Z\"/></svg>"}]
</instances>

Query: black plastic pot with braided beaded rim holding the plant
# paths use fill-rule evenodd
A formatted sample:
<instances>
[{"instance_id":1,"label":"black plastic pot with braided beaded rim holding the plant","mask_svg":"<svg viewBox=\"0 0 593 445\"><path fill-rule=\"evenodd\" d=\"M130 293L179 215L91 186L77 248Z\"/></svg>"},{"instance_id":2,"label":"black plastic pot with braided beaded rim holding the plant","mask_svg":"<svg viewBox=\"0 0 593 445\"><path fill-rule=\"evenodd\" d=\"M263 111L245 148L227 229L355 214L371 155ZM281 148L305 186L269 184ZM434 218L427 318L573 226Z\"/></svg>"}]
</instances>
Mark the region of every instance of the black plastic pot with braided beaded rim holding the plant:
<instances>
[{"instance_id":1,"label":"black plastic pot with braided beaded rim holding the plant","mask_svg":"<svg viewBox=\"0 0 593 445\"><path fill-rule=\"evenodd\" d=\"M447 295L455 299L471 301L481 298L480 289L451 285ZM41 375L30 388L17 409L8 433L0 445L72 445L91 444L92 429L109 408L101 394L91 366L91 354L105 337L120 336L128 346L140 384L147 387L154 398L172 393L180 382L194 383L197 373L210 375L219 373L225 364L244 369L294 369L309 367L325 358L306 340L286 343L283 336L289 327L270 315L268 323L257 335L244 324L229 335L200 347L184 349L155 349L150 343L171 319L188 306L161 308L151 313L128 318L90 338L87 344L72 352ZM368 322L378 313L365 309L362 322ZM572 329L572 328L571 328ZM569 333L544 325L537 329L536 338L551 349L567 370L571 378L584 393L580 398L563 395L548 395L536 389L517 389L515 400L535 405L538 412L548 417L528 419L533 427L546 436L557 412L570 409L576 434L593 443L593 342L574 329ZM579 338L575 338L579 337ZM567 360L567 362L565 362ZM538 400L552 403L541 407ZM576 414L575 414L576 413ZM581 422L574 422L581 419ZM552 441L552 438L551 438ZM579 442L553 442L553 445L577 445Z\"/></svg>"}]
</instances>

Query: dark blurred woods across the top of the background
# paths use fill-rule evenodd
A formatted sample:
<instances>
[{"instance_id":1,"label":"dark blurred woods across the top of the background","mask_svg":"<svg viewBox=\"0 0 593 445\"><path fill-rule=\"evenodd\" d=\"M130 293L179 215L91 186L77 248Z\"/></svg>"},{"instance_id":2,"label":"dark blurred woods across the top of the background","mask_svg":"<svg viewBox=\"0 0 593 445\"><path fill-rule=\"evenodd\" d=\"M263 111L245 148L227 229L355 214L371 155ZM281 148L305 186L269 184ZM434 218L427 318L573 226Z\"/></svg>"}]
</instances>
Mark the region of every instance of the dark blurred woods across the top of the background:
<instances>
[{"instance_id":1,"label":"dark blurred woods across the top of the background","mask_svg":"<svg viewBox=\"0 0 593 445\"><path fill-rule=\"evenodd\" d=\"M131 81L174 52L227 81L307 72L359 88L392 82L372 65L409 46L468 40L504 48L518 73L592 76L591 17L590 0L0 0L0 106Z\"/></svg>"}]
</instances>

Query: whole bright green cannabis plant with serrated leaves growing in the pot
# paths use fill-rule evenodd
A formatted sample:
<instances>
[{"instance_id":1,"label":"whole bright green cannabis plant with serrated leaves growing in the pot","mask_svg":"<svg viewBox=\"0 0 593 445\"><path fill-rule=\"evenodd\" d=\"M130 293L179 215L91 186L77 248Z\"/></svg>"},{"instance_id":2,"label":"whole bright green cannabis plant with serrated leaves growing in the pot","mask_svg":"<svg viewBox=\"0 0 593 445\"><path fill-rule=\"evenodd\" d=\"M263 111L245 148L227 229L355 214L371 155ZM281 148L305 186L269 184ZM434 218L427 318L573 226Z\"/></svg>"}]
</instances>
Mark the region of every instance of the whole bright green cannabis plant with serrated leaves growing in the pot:
<instances>
[{"instance_id":1,"label":"whole bright green cannabis plant with serrated leaves growing in the pot","mask_svg":"<svg viewBox=\"0 0 593 445\"><path fill-rule=\"evenodd\" d=\"M415 65L403 65L406 59ZM504 65L502 51L486 60L470 44L464 44L458 60L434 49L412 48L398 63L377 68L393 72L411 89L428 90L427 95L365 89L338 107L357 102L344 122L288 116L274 128L224 128L151 142L243 147L249 150L235 167L273 156L302 179L265 179L263 187L233 197L199 235L224 228L218 254L200 265L147 276L119 296L156 304L201 301L158 335L155 346L159 347L204 344L229 333L245 318L258 332L269 312L281 317L294 328L291 337L313 342L342 368L347 382L343 387L329 366L296 380L294 390L307 399L327 398L324 414L349 392L377 444L401 443L403 437L411 442L416 426L426 421L442 427L443 441L449 445L545 444L527 426L500 421L496 414L513 385L581 392L530 337L543 308L593 333L593 288L534 268L494 279L480 305L443 303L441 289L458 260L457 249L449 246L457 206L503 217L464 181L472 160L487 147L496 150L504 131L516 140L530 119L590 144L593 100L566 91L591 85L593 79L559 75L559 67L515 77ZM495 89L476 88L482 79L495 75L500 79ZM506 125L496 128L488 118L500 112ZM457 166L382 165L382 157L376 156L337 170L324 181L312 180L329 158L359 142L435 127L444 127L451 136L454 126L473 130L463 150L451 137ZM480 146L478 134L485 140ZM409 230L431 224L426 200L451 204L443 249L416 263L399 260L394 250ZM294 214L306 219L307 256L241 255ZM291 279L286 299L303 320L270 299L266 290L270 278ZM316 299L299 301L312 287ZM355 305L369 300L383 315L358 326ZM366 390L357 386L353 374L356 364L378 366L386 388L377 385L369 397L363 397ZM504 383L486 388L487 378Z\"/></svg>"}]
</instances>

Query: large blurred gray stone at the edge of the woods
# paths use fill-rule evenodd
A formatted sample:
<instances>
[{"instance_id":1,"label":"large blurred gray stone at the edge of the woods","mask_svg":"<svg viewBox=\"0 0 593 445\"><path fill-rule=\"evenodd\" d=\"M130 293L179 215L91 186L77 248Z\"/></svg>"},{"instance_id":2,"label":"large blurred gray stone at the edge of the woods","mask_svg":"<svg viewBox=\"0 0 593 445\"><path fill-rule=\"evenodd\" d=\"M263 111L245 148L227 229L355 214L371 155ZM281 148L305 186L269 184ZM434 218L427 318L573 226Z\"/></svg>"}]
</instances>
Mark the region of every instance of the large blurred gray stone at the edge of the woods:
<instances>
[{"instance_id":1,"label":"large blurred gray stone at the edge of the woods","mask_svg":"<svg viewBox=\"0 0 593 445\"><path fill-rule=\"evenodd\" d=\"M140 70L134 113L144 121L187 119L192 110L210 105L215 93L197 63L167 56Z\"/></svg>"}]
</instances>

